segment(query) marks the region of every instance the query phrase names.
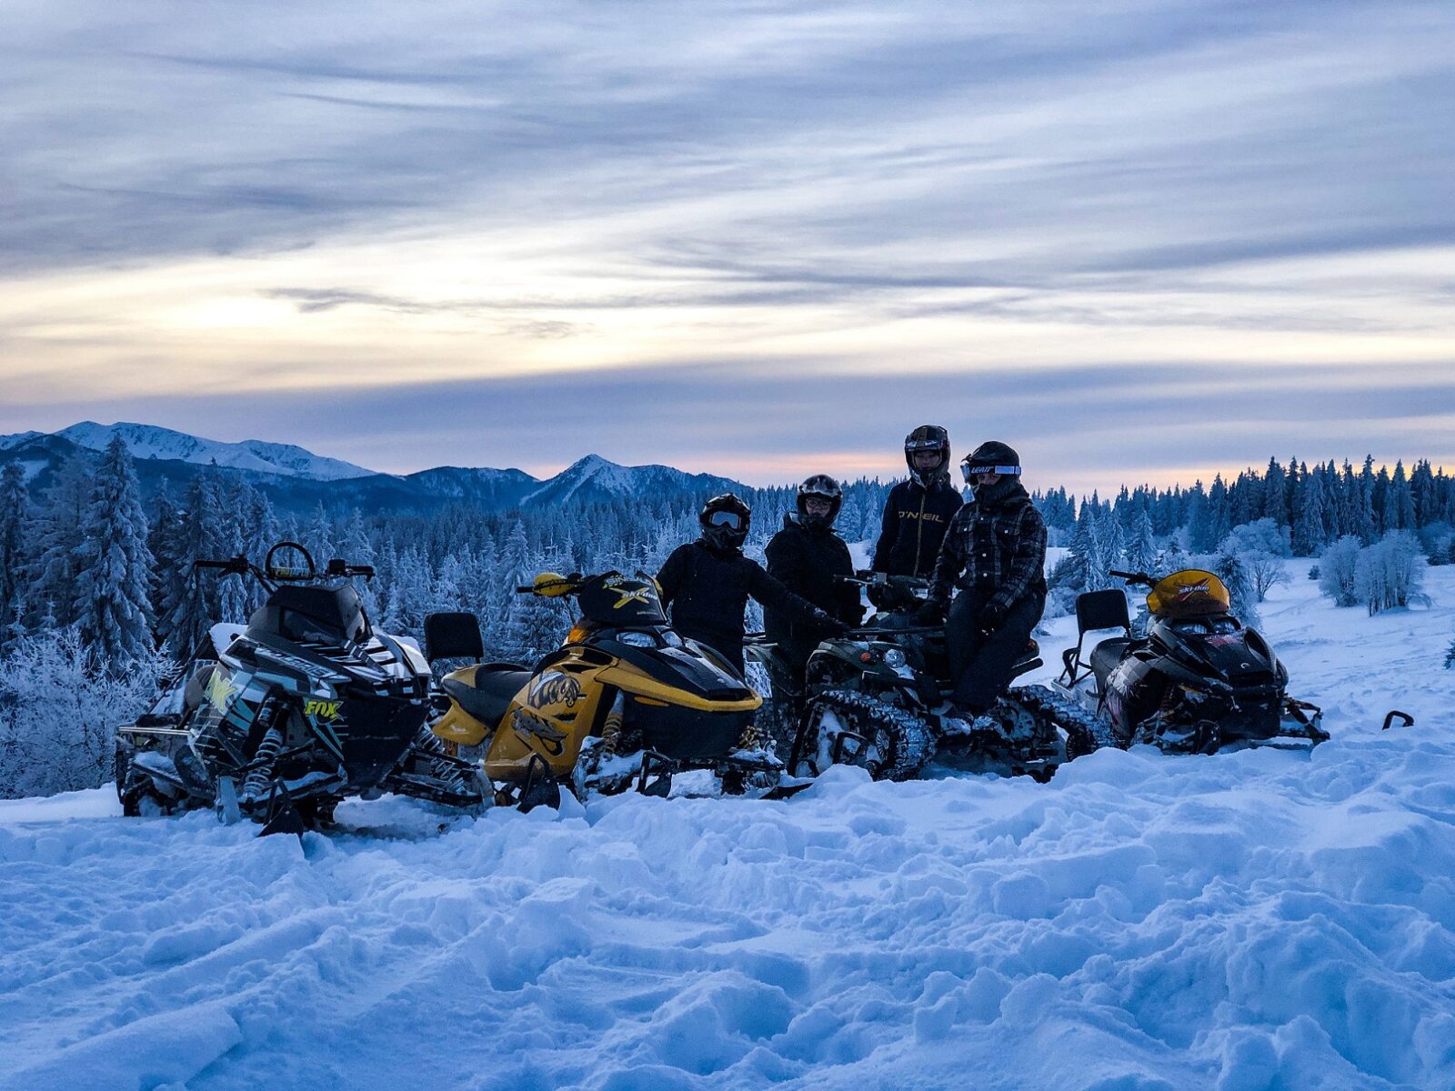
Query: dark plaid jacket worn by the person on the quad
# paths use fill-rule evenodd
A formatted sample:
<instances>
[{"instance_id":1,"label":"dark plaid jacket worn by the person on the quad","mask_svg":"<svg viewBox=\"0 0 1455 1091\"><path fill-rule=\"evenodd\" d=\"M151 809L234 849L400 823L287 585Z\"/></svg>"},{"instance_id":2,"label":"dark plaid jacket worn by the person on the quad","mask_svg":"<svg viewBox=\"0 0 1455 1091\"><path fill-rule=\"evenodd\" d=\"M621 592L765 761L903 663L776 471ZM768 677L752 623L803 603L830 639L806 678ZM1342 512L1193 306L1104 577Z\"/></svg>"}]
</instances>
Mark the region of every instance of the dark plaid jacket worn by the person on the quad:
<instances>
[{"instance_id":1,"label":"dark plaid jacket worn by the person on the quad","mask_svg":"<svg viewBox=\"0 0 1455 1091\"><path fill-rule=\"evenodd\" d=\"M1046 594L1045 573L1046 524L1017 483L1001 503L968 503L954 513L940 546L930 599L947 602L957 586L1010 610L1032 591Z\"/></svg>"}]
</instances>

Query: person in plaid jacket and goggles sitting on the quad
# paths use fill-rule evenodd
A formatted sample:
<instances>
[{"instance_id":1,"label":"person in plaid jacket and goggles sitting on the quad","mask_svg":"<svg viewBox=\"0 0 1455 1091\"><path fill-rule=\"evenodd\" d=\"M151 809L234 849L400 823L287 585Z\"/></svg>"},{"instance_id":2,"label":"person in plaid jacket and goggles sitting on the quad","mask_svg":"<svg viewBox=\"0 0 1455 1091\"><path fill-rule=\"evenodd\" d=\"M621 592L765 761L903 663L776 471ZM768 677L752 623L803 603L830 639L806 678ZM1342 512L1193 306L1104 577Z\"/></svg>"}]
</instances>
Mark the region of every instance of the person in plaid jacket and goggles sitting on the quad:
<instances>
[{"instance_id":1,"label":"person in plaid jacket and goggles sitting on the quad","mask_svg":"<svg viewBox=\"0 0 1455 1091\"><path fill-rule=\"evenodd\" d=\"M960 464L975 499L950 522L920 624L946 620L952 714L976 720L1010 688L1046 607L1046 524L1020 483L1020 455L995 439ZM959 595L950 604L952 586Z\"/></svg>"}]
</instances>

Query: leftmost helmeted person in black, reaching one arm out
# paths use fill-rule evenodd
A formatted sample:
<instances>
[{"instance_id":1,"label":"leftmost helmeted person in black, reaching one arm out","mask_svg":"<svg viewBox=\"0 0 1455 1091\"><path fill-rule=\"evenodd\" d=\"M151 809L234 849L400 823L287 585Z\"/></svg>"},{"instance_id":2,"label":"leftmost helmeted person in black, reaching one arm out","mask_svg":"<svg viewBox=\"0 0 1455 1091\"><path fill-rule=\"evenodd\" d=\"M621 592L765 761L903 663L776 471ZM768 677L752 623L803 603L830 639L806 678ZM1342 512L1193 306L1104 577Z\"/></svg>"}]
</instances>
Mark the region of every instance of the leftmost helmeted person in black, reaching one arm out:
<instances>
[{"instance_id":1,"label":"leftmost helmeted person in black, reaching one arm out","mask_svg":"<svg viewBox=\"0 0 1455 1091\"><path fill-rule=\"evenodd\" d=\"M742 556L752 511L732 493L714 496L697 521L703 535L678 546L656 582L662 605L672 608L672 628L707 644L742 674L744 610L754 598L770 610L793 614L806 626L841 633L845 626L806 602Z\"/></svg>"}]
</instances>

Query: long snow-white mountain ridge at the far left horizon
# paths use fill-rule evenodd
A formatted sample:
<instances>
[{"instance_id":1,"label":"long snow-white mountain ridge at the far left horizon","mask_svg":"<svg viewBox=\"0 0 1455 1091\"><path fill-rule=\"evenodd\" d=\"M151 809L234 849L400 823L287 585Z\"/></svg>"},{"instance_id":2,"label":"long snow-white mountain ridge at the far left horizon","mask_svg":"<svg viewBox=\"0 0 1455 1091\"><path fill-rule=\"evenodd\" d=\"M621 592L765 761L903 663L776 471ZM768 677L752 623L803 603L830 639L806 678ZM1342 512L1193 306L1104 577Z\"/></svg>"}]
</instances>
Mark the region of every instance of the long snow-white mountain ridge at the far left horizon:
<instances>
[{"instance_id":1,"label":"long snow-white mountain ridge at the far left horizon","mask_svg":"<svg viewBox=\"0 0 1455 1091\"><path fill-rule=\"evenodd\" d=\"M33 435L36 433L4 436L0 439L0 448L23 442L26 436ZM83 420L79 425L63 428L55 435L92 451L105 449L112 436L119 435L132 458L170 458L202 465L217 463L234 470L252 470L281 477L306 477L316 481L365 477L374 473L372 470L365 470L338 458L323 458L292 444L269 444L262 439L226 444L217 439L202 439L186 432L176 432L170 428L137 425L127 420L116 422L115 425L99 425L95 420Z\"/></svg>"}]
</instances>

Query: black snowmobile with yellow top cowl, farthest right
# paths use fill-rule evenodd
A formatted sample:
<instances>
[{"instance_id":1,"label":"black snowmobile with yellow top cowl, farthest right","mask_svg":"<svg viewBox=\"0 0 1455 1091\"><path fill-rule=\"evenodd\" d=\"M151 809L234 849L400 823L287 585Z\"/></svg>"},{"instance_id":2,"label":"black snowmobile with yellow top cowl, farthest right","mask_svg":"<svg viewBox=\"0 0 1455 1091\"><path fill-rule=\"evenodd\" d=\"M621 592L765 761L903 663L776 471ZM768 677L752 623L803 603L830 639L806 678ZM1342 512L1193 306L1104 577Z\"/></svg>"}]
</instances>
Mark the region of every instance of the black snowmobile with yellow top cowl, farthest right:
<instances>
[{"instance_id":1,"label":"black snowmobile with yellow top cowl, farthest right","mask_svg":"<svg viewBox=\"0 0 1455 1091\"><path fill-rule=\"evenodd\" d=\"M1288 669L1256 630L1232 617L1227 586L1211 572L1168 576L1112 572L1148 588L1145 637L1132 636L1119 589L1077 596L1077 646L1062 653L1058 688L1110 724L1119 746L1212 754L1227 746L1311 748L1328 733L1323 713L1285 690ZM1120 628L1083 659L1085 636Z\"/></svg>"}]
</instances>

